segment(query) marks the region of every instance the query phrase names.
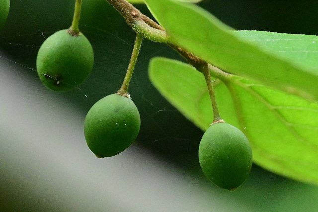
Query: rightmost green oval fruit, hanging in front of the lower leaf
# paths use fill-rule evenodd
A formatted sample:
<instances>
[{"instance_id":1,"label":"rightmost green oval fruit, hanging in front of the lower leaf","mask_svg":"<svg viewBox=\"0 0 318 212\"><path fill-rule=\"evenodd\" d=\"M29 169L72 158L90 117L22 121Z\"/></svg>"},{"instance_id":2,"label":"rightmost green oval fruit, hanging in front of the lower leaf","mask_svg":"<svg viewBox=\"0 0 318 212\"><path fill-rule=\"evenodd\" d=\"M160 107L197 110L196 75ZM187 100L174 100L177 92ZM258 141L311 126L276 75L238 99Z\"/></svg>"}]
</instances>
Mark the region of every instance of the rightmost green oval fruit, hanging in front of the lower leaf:
<instances>
[{"instance_id":1,"label":"rightmost green oval fruit, hanging in front of the lower leaf","mask_svg":"<svg viewBox=\"0 0 318 212\"><path fill-rule=\"evenodd\" d=\"M212 124L199 145L203 173L221 188L234 190L248 177L252 151L246 136L228 123Z\"/></svg>"}]
</instances>

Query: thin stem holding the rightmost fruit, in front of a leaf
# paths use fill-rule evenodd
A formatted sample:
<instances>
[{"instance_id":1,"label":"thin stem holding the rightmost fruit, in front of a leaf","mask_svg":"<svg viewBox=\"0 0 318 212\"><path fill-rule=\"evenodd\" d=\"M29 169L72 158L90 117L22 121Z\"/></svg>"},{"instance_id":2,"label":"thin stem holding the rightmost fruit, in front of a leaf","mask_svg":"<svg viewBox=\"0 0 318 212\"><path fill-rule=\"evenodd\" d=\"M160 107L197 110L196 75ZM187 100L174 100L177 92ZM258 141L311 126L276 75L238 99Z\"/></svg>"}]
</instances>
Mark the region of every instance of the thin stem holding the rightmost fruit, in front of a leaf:
<instances>
[{"instance_id":1,"label":"thin stem holding the rightmost fruit, in front of a leaf","mask_svg":"<svg viewBox=\"0 0 318 212\"><path fill-rule=\"evenodd\" d=\"M202 74L204 75L205 81L207 83L207 87L208 87L208 91L209 91L209 95L210 95L210 100L211 100L211 104L212 104L212 109L213 109L213 123L223 122L223 120L221 119L220 113L219 113L216 99L215 99L214 88L213 88L212 79L211 79L211 75L210 75L210 71L209 71L209 64L204 63L200 67L198 67L197 69L198 69L198 71L202 72Z\"/></svg>"}]
</instances>

